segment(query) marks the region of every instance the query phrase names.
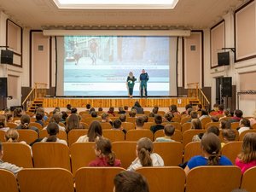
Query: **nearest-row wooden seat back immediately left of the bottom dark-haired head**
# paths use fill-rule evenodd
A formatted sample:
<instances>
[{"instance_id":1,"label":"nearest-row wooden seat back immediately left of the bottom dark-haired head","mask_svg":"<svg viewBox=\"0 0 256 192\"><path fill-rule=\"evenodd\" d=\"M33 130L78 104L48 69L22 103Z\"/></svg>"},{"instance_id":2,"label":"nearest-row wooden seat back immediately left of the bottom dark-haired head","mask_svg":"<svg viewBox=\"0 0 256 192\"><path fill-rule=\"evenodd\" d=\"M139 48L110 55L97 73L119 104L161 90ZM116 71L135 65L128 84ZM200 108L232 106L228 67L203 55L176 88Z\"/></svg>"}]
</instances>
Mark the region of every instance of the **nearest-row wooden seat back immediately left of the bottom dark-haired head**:
<instances>
[{"instance_id":1,"label":"nearest-row wooden seat back immediately left of the bottom dark-haired head","mask_svg":"<svg viewBox=\"0 0 256 192\"><path fill-rule=\"evenodd\" d=\"M75 174L76 192L112 192L113 178L125 169L120 167L83 167Z\"/></svg>"}]
</instances>

